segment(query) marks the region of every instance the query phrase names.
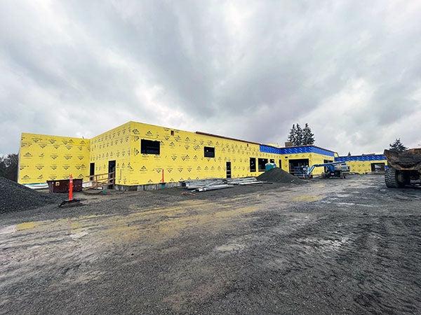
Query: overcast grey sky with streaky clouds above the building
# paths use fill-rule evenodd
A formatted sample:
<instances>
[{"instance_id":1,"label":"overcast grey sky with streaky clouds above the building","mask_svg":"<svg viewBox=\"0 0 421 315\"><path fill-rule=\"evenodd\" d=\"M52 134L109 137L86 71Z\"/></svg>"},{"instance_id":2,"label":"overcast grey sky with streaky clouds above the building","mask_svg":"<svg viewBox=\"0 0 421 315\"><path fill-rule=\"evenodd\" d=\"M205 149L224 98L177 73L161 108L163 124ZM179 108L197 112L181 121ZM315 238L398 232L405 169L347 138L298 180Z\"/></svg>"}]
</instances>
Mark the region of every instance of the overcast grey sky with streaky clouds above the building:
<instances>
[{"instance_id":1,"label":"overcast grey sky with streaky clouds above the building","mask_svg":"<svg viewBox=\"0 0 421 315\"><path fill-rule=\"evenodd\" d=\"M0 154L135 120L380 153L421 144L421 1L0 1Z\"/></svg>"}]
</instances>

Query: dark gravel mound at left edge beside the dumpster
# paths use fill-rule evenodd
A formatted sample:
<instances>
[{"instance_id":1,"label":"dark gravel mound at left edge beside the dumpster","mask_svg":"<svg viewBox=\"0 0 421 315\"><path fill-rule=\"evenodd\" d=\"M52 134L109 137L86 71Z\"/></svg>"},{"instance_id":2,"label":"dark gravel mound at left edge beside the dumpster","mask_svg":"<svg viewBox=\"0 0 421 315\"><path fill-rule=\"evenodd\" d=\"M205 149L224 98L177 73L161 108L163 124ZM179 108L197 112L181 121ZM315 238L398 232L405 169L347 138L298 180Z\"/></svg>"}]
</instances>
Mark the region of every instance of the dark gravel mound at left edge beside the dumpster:
<instances>
[{"instance_id":1,"label":"dark gravel mound at left edge beside the dumpster","mask_svg":"<svg viewBox=\"0 0 421 315\"><path fill-rule=\"evenodd\" d=\"M0 177L0 214L22 211L60 202L61 197L39 193L14 181Z\"/></svg>"}]
</instances>

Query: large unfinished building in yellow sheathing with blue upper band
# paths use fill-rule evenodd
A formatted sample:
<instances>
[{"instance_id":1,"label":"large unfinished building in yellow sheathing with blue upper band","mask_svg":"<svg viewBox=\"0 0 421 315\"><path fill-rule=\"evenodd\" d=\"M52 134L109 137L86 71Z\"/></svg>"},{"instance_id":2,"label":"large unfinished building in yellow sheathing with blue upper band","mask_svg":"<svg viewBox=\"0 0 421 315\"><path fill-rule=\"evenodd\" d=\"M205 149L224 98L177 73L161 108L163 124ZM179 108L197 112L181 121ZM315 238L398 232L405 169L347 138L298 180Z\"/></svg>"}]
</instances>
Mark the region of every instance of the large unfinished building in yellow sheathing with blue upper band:
<instances>
[{"instance_id":1,"label":"large unfinished building in yellow sheathing with blue upper band","mask_svg":"<svg viewBox=\"0 0 421 315\"><path fill-rule=\"evenodd\" d=\"M189 179L258 176L267 162L286 172L333 162L335 152L317 146L277 148L203 132L128 122L92 139L23 133L18 182L45 183L115 172L118 188ZM323 168L314 170L321 174ZM120 187L119 187L120 186Z\"/></svg>"}]
</instances>

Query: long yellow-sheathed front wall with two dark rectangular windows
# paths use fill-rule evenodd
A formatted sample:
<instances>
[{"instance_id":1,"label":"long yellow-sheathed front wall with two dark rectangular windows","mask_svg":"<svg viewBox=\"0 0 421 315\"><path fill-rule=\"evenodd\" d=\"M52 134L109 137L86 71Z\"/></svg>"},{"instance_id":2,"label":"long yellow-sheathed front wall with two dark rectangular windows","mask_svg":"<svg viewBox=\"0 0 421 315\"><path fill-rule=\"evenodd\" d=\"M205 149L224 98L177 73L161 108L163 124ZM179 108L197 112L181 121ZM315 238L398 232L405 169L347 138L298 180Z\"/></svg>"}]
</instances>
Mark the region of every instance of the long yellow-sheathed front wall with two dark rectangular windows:
<instances>
[{"instance_id":1,"label":"long yellow-sheathed front wall with two dark rectangular windows","mask_svg":"<svg viewBox=\"0 0 421 315\"><path fill-rule=\"evenodd\" d=\"M258 144L212 137L166 127L131 123L130 185L176 182L188 179L225 178L226 162L231 162L232 178L258 176L258 158L280 155L260 152ZM171 135L173 131L173 135ZM141 139L160 141L160 155L140 153ZM215 158L204 157L204 146L215 148ZM256 158L256 172L250 172L250 158Z\"/></svg>"}]
</instances>

